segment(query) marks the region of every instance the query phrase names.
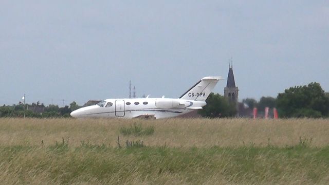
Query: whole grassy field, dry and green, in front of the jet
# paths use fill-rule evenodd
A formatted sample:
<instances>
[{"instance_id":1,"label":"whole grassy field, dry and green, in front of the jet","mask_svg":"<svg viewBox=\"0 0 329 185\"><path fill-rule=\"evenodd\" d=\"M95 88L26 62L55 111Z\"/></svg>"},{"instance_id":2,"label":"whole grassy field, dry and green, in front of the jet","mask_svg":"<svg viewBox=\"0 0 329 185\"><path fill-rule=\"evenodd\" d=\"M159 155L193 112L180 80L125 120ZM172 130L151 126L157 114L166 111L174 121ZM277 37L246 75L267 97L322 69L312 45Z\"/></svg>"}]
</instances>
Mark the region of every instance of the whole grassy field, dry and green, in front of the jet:
<instances>
[{"instance_id":1,"label":"whole grassy field, dry and green, in front of the jet","mask_svg":"<svg viewBox=\"0 0 329 185\"><path fill-rule=\"evenodd\" d=\"M0 182L327 184L328 133L328 119L0 119Z\"/></svg>"}]
</instances>

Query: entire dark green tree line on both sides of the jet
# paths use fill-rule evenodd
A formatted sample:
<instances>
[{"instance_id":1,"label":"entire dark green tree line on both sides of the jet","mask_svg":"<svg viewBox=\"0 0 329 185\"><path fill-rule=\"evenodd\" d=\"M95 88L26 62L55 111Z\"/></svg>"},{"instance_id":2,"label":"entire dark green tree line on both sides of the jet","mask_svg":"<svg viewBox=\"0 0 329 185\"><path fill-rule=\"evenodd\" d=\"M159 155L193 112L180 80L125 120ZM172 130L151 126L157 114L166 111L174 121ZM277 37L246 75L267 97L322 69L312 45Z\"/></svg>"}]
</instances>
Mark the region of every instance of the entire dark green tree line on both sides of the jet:
<instances>
[{"instance_id":1,"label":"entire dark green tree line on both sides of the jet","mask_svg":"<svg viewBox=\"0 0 329 185\"><path fill-rule=\"evenodd\" d=\"M207 105L198 111L203 117L229 118L236 117L238 104L229 101L224 96L211 93L206 100ZM329 117L329 93L325 93L319 83L309 83L304 86L294 86L285 89L277 97L262 97L259 101L246 98L242 104L250 109L258 108L260 112L265 107L276 107L280 118L328 118ZM0 106L0 117L24 117L24 105ZM75 101L69 106L58 105L45 106L40 102L25 104L25 116L30 118L65 118L70 113L82 106Z\"/></svg>"}]
</instances>

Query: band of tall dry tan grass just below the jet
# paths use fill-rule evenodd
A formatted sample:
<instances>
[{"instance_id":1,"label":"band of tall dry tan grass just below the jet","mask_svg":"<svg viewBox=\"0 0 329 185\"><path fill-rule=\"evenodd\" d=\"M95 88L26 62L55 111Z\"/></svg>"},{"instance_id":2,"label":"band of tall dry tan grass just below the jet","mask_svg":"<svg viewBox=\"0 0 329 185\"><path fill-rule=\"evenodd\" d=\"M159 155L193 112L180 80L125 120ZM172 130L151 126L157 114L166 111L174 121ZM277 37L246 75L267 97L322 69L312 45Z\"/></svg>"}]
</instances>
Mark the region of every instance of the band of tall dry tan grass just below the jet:
<instances>
[{"instance_id":1,"label":"band of tall dry tan grass just below the jet","mask_svg":"<svg viewBox=\"0 0 329 185\"><path fill-rule=\"evenodd\" d=\"M154 127L152 136L123 136L121 127L133 124ZM142 140L145 145L174 147L290 146L312 139L312 146L329 144L329 119L0 119L1 145L45 146L68 139L70 146L81 141L117 145Z\"/></svg>"}]
</instances>

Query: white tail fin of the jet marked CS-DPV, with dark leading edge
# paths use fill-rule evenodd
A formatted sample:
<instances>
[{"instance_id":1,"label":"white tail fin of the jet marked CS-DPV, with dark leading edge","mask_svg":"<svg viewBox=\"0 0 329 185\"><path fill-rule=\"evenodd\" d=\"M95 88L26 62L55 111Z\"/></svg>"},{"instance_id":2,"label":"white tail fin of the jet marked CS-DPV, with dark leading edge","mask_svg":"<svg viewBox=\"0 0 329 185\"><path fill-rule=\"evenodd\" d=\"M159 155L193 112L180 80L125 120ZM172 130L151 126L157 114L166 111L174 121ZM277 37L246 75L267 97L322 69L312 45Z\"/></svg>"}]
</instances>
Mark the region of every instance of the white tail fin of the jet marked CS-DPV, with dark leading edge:
<instances>
[{"instance_id":1,"label":"white tail fin of the jet marked CS-DPV, with dark leading edge","mask_svg":"<svg viewBox=\"0 0 329 185\"><path fill-rule=\"evenodd\" d=\"M200 100L205 101L212 89L219 80L224 80L221 77L205 77L192 86L179 98L184 100Z\"/></svg>"}]
</instances>

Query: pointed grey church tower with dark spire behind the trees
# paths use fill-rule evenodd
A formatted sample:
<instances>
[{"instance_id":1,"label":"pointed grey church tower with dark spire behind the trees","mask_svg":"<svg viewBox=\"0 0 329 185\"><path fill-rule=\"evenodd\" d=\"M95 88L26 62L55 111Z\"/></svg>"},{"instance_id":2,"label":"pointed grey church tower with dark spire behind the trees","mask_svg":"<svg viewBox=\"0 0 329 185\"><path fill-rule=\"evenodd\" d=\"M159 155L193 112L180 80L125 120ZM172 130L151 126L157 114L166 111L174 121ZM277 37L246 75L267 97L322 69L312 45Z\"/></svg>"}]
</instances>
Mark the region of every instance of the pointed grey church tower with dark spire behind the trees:
<instances>
[{"instance_id":1,"label":"pointed grey church tower with dark spire behind the trees","mask_svg":"<svg viewBox=\"0 0 329 185\"><path fill-rule=\"evenodd\" d=\"M239 88L235 86L235 80L233 75L233 63L228 64L228 76L227 76L227 84L224 88L224 97L229 101L233 101L237 105L237 100L239 98Z\"/></svg>"}]
</instances>

